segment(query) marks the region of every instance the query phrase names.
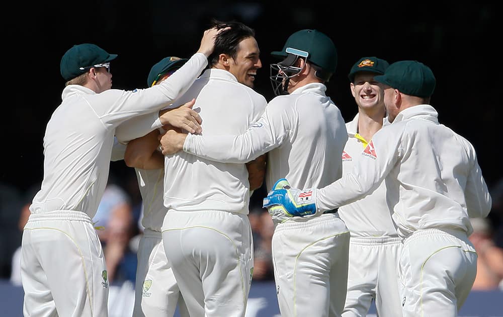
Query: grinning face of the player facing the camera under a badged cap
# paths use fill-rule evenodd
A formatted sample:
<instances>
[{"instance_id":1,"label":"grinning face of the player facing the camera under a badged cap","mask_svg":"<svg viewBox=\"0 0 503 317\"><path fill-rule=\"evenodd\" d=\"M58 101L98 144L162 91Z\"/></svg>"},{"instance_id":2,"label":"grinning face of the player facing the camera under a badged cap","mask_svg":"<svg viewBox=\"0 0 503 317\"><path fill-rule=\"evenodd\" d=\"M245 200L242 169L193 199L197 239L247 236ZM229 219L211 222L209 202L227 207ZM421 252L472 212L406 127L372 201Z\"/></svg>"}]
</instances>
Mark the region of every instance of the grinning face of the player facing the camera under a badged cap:
<instances>
[{"instance_id":1,"label":"grinning face of the player facing the camera under a badged cap","mask_svg":"<svg viewBox=\"0 0 503 317\"><path fill-rule=\"evenodd\" d=\"M375 73L359 72L351 83L351 93L359 108L384 108L383 85L374 81Z\"/></svg>"}]
</instances>

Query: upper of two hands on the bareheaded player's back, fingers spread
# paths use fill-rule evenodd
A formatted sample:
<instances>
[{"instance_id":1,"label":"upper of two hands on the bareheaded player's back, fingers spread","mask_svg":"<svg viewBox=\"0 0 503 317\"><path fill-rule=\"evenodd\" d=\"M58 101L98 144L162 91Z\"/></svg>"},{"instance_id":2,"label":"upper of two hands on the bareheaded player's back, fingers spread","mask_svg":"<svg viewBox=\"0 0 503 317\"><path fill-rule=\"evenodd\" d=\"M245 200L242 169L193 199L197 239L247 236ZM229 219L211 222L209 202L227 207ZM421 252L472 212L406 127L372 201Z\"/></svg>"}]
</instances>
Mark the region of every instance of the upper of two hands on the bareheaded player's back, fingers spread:
<instances>
[{"instance_id":1,"label":"upper of two hands on the bareheaded player's back, fingers spread","mask_svg":"<svg viewBox=\"0 0 503 317\"><path fill-rule=\"evenodd\" d=\"M182 128L190 133L201 133L201 116L194 110L192 106L196 103L192 99L188 103L169 110L159 111L159 119L162 125L171 125L175 128Z\"/></svg>"}]
</instances>

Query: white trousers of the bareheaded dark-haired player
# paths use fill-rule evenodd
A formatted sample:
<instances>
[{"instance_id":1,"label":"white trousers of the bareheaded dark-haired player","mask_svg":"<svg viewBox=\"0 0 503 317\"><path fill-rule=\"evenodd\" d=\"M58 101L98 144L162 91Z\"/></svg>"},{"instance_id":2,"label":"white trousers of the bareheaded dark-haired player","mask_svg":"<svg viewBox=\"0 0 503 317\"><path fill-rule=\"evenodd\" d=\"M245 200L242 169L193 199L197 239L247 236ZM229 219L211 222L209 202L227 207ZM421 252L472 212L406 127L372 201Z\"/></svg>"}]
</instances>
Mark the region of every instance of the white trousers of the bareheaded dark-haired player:
<instances>
[{"instance_id":1,"label":"white trousers of the bareheaded dark-haired player","mask_svg":"<svg viewBox=\"0 0 503 317\"><path fill-rule=\"evenodd\" d=\"M247 215L170 210L162 240L191 317L244 316L253 273Z\"/></svg>"}]
</instances>

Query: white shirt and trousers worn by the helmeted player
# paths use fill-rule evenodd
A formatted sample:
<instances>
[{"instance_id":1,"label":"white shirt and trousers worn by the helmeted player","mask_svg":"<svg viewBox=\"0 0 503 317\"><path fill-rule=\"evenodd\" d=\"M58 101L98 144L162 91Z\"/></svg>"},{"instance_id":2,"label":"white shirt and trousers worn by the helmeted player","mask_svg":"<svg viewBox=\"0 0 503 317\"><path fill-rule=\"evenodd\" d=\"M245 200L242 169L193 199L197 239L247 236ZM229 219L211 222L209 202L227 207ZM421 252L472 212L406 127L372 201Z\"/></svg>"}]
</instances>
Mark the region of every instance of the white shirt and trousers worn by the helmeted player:
<instances>
[{"instance_id":1,"label":"white shirt and trousers worn by the helmeted player","mask_svg":"<svg viewBox=\"0 0 503 317\"><path fill-rule=\"evenodd\" d=\"M247 162L269 152L268 189L280 178L286 178L295 188L326 186L342 176L341 155L348 134L339 108L325 91L325 85L313 83L290 95L278 96L269 102L264 115L245 133L211 137L189 135L184 150L221 162ZM318 219L321 217L338 221L325 223ZM297 230L278 233L282 226L296 223L303 228L298 230L302 234ZM323 237L338 233L342 235L337 240L323 240ZM299 316L340 316L348 274L349 231L344 222L334 215L293 217L277 224L274 235L273 257L276 263L282 263L275 265L275 277L280 288L285 289L278 294L282 315L293 316L298 312ZM308 256L297 260L295 252L298 254L311 243L313 247L305 252ZM311 250L322 252L314 256ZM337 257L340 261L336 261ZM292 276L283 276L293 272L294 265L304 268L298 272L301 280L297 284ZM306 276L307 268L317 275ZM316 281L319 287L313 286ZM300 298L309 296L313 289L318 299L309 297L312 299L309 302ZM294 290L299 294L298 301L291 297Z\"/></svg>"}]
</instances>

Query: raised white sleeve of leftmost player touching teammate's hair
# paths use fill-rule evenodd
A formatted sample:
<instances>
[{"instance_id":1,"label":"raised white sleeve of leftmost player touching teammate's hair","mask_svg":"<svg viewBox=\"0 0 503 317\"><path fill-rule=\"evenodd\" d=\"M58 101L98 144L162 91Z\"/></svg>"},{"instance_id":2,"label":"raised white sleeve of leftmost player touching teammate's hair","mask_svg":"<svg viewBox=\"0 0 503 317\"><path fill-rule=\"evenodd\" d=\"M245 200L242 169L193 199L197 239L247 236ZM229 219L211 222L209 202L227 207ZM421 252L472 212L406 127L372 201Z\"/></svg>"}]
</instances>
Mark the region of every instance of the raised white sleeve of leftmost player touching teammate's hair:
<instances>
[{"instance_id":1,"label":"raised white sleeve of leftmost player touching teammate's hair","mask_svg":"<svg viewBox=\"0 0 503 317\"><path fill-rule=\"evenodd\" d=\"M87 98L100 120L106 126L116 127L129 118L159 111L175 102L189 89L207 64L206 56L196 53L159 85L133 91L110 89Z\"/></svg>"}]
</instances>

